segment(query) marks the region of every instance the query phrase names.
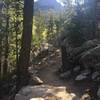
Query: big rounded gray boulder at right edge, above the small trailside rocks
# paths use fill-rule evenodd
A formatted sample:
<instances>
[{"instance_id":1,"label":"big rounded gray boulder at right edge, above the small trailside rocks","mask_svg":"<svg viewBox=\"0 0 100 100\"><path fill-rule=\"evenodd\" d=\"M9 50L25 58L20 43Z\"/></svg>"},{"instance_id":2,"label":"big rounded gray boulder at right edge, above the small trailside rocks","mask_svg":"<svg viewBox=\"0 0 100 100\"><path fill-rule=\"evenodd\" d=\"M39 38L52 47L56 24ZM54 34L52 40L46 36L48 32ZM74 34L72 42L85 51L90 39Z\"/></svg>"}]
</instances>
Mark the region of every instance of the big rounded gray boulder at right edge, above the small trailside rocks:
<instances>
[{"instance_id":1,"label":"big rounded gray boulder at right edge, above the small trailside rocks","mask_svg":"<svg viewBox=\"0 0 100 100\"><path fill-rule=\"evenodd\" d=\"M81 54L79 61L85 68L100 69L100 45Z\"/></svg>"}]
</instances>

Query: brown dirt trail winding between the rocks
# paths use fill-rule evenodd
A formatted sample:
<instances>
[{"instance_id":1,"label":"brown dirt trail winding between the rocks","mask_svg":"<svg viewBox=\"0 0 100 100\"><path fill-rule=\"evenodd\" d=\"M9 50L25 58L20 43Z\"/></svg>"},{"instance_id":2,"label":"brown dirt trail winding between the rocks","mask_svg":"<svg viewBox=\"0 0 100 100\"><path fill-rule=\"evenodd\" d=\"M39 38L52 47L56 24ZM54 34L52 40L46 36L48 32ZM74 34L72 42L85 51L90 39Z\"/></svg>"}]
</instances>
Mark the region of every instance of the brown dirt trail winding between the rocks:
<instances>
[{"instance_id":1,"label":"brown dirt trail winding between the rocks","mask_svg":"<svg viewBox=\"0 0 100 100\"><path fill-rule=\"evenodd\" d=\"M44 84L53 86L65 86L68 92L75 93L81 97L87 89L91 90L93 100L97 100L97 83L92 81L76 82L72 74L69 79L61 79L57 70L61 66L61 53L59 49L54 49L53 53L47 55L47 60L41 64L39 70L39 77L43 80Z\"/></svg>"}]
</instances>

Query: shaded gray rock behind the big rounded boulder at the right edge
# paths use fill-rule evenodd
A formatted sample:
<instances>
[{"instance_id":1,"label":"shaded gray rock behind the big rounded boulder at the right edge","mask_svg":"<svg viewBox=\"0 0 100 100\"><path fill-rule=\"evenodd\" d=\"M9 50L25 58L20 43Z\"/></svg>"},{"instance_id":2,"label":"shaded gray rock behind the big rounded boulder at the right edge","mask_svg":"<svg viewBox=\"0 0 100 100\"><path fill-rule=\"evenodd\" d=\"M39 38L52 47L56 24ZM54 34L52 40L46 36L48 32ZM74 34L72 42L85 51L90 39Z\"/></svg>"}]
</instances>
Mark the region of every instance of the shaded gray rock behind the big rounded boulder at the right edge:
<instances>
[{"instance_id":1,"label":"shaded gray rock behind the big rounded boulder at the right edge","mask_svg":"<svg viewBox=\"0 0 100 100\"><path fill-rule=\"evenodd\" d=\"M68 60L72 63L78 62L80 57L84 55L85 52L97 47L98 45L100 45L100 43L96 39L86 41L80 47L74 47L73 45L69 44L67 39L65 39L62 43L62 46L66 47L66 56L68 57Z\"/></svg>"}]
</instances>

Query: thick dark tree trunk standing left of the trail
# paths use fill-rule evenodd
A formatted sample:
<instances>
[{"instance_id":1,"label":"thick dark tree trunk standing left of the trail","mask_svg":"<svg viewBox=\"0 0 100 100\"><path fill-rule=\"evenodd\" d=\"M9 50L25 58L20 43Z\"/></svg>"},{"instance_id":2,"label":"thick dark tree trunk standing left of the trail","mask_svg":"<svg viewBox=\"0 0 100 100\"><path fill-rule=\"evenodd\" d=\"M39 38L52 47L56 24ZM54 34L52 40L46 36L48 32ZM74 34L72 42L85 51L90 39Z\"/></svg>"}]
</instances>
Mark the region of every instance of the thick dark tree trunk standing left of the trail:
<instances>
[{"instance_id":1,"label":"thick dark tree trunk standing left of the trail","mask_svg":"<svg viewBox=\"0 0 100 100\"><path fill-rule=\"evenodd\" d=\"M23 34L18 61L18 86L27 85L29 81L29 61L32 38L33 0L24 0Z\"/></svg>"}]
</instances>

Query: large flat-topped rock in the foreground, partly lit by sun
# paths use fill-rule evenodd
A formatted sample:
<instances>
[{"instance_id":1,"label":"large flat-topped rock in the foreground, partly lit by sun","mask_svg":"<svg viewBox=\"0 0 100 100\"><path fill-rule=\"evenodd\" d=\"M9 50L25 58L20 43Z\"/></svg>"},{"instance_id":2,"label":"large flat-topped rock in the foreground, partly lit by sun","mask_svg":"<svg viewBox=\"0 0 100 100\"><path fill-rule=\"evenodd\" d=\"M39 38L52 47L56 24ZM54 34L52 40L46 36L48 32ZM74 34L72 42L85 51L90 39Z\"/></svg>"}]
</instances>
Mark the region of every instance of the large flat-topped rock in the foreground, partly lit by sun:
<instances>
[{"instance_id":1,"label":"large flat-topped rock in the foreground, partly lit by sun","mask_svg":"<svg viewBox=\"0 0 100 100\"><path fill-rule=\"evenodd\" d=\"M15 100L79 100L74 93L66 92L66 87L49 85L27 86L15 96Z\"/></svg>"}]
</instances>

